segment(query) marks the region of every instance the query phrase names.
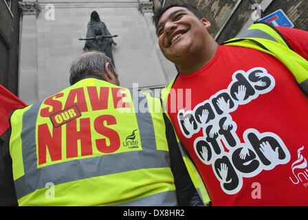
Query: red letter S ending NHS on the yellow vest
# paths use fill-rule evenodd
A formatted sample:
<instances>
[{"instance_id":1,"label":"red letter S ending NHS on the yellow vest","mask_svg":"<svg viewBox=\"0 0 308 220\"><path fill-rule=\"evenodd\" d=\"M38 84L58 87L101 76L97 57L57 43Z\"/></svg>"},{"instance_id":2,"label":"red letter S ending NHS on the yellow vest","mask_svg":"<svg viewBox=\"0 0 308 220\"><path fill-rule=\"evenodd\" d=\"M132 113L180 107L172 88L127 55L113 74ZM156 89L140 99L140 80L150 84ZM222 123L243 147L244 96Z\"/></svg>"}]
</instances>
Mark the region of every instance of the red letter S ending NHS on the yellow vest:
<instances>
[{"instance_id":1,"label":"red letter S ending NHS on the yellow vest","mask_svg":"<svg viewBox=\"0 0 308 220\"><path fill-rule=\"evenodd\" d=\"M116 131L105 126L104 122L107 125L117 123L113 115L100 115L94 120L94 129L101 135L108 137L110 141L110 145L107 146L106 138L98 139L96 140L96 147L102 153L113 153L120 148L120 136Z\"/></svg>"}]
</instances>

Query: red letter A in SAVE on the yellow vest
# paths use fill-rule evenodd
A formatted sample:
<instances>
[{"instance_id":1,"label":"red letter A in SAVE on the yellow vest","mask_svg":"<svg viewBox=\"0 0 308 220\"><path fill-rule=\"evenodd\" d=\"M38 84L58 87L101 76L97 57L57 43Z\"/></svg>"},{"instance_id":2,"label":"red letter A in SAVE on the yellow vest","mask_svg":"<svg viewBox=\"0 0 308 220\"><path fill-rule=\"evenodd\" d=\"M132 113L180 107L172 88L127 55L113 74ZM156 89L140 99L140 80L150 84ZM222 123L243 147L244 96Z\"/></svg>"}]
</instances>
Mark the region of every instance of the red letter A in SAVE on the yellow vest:
<instances>
[{"instance_id":1,"label":"red letter A in SAVE on the yellow vest","mask_svg":"<svg viewBox=\"0 0 308 220\"><path fill-rule=\"evenodd\" d=\"M88 111L87 102L85 100L85 91L82 88L72 89L65 103L65 109L76 104L81 112Z\"/></svg>"}]
</instances>

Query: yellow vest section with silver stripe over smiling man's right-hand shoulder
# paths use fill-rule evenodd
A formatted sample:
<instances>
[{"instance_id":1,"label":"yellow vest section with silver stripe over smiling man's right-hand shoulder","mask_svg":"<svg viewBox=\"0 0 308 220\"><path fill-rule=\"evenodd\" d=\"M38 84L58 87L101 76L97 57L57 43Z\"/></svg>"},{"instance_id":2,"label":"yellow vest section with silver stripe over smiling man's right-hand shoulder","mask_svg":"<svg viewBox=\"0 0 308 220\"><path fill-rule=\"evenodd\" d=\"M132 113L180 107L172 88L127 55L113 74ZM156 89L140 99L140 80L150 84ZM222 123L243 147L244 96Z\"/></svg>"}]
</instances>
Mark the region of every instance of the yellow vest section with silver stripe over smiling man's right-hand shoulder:
<instances>
[{"instance_id":1,"label":"yellow vest section with silver stripe over smiling man's right-hand shoulder","mask_svg":"<svg viewBox=\"0 0 308 220\"><path fill-rule=\"evenodd\" d=\"M276 57L296 78L300 88L308 96L308 61L296 54L283 35L268 23L254 23L223 45L250 47Z\"/></svg>"}]
</instances>

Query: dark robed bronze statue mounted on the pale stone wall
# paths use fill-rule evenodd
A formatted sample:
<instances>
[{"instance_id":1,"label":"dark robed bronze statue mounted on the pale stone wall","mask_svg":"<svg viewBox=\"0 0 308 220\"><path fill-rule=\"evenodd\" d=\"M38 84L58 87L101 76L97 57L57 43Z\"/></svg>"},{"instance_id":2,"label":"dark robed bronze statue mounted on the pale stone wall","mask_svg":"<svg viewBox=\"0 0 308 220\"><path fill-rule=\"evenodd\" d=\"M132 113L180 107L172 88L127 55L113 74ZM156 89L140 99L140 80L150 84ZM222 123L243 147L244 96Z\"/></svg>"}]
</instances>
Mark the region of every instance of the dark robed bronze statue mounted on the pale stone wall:
<instances>
[{"instance_id":1,"label":"dark robed bronze statue mounted on the pale stone wall","mask_svg":"<svg viewBox=\"0 0 308 220\"><path fill-rule=\"evenodd\" d=\"M113 37L117 37L118 35L111 36L109 30L104 22L100 20L100 16L96 11L91 13L91 19L87 28L87 38L79 39L80 41L85 41L85 47L83 47L83 50L104 52L104 54L111 58L112 64L114 65L111 45L117 45L113 41Z\"/></svg>"}]
</instances>

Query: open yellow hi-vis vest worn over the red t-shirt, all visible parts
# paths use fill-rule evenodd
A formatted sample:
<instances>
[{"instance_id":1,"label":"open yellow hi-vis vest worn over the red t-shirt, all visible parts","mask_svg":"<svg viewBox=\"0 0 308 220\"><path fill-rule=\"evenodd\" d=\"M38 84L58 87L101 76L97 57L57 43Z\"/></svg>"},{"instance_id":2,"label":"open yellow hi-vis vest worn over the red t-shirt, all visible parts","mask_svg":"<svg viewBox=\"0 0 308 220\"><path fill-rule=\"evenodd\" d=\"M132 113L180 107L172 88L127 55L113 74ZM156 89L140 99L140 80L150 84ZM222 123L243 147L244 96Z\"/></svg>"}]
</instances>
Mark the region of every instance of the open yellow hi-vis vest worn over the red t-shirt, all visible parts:
<instances>
[{"instance_id":1,"label":"open yellow hi-vis vest worn over the red t-shirt, all visible parts","mask_svg":"<svg viewBox=\"0 0 308 220\"><path fill-rule=\"evenodd\" d=\"M223 44L250 47L275 56L289 69L290 72L292 72L292 74L294 74L298 85L300 85L306 95L308 94L308 62L305 58L296 54L287 41L285 41L283 36L271 25L267 23L254 23L247 31L243 32L243 34L240 34ZM168 95L170 94L170 89L172 89L175 80L176 78L162 90L161 98L165 106L168 100ZM185 154L180 143L179 148L188 169L188 173L190 173L192 182L199 192L203 203L208 203L210 198L206 191L206 187L203 185L203 181L197 172L197 168L195 168L194 164L192 164L189 157Z\"/></svg>"}]
</instances>

